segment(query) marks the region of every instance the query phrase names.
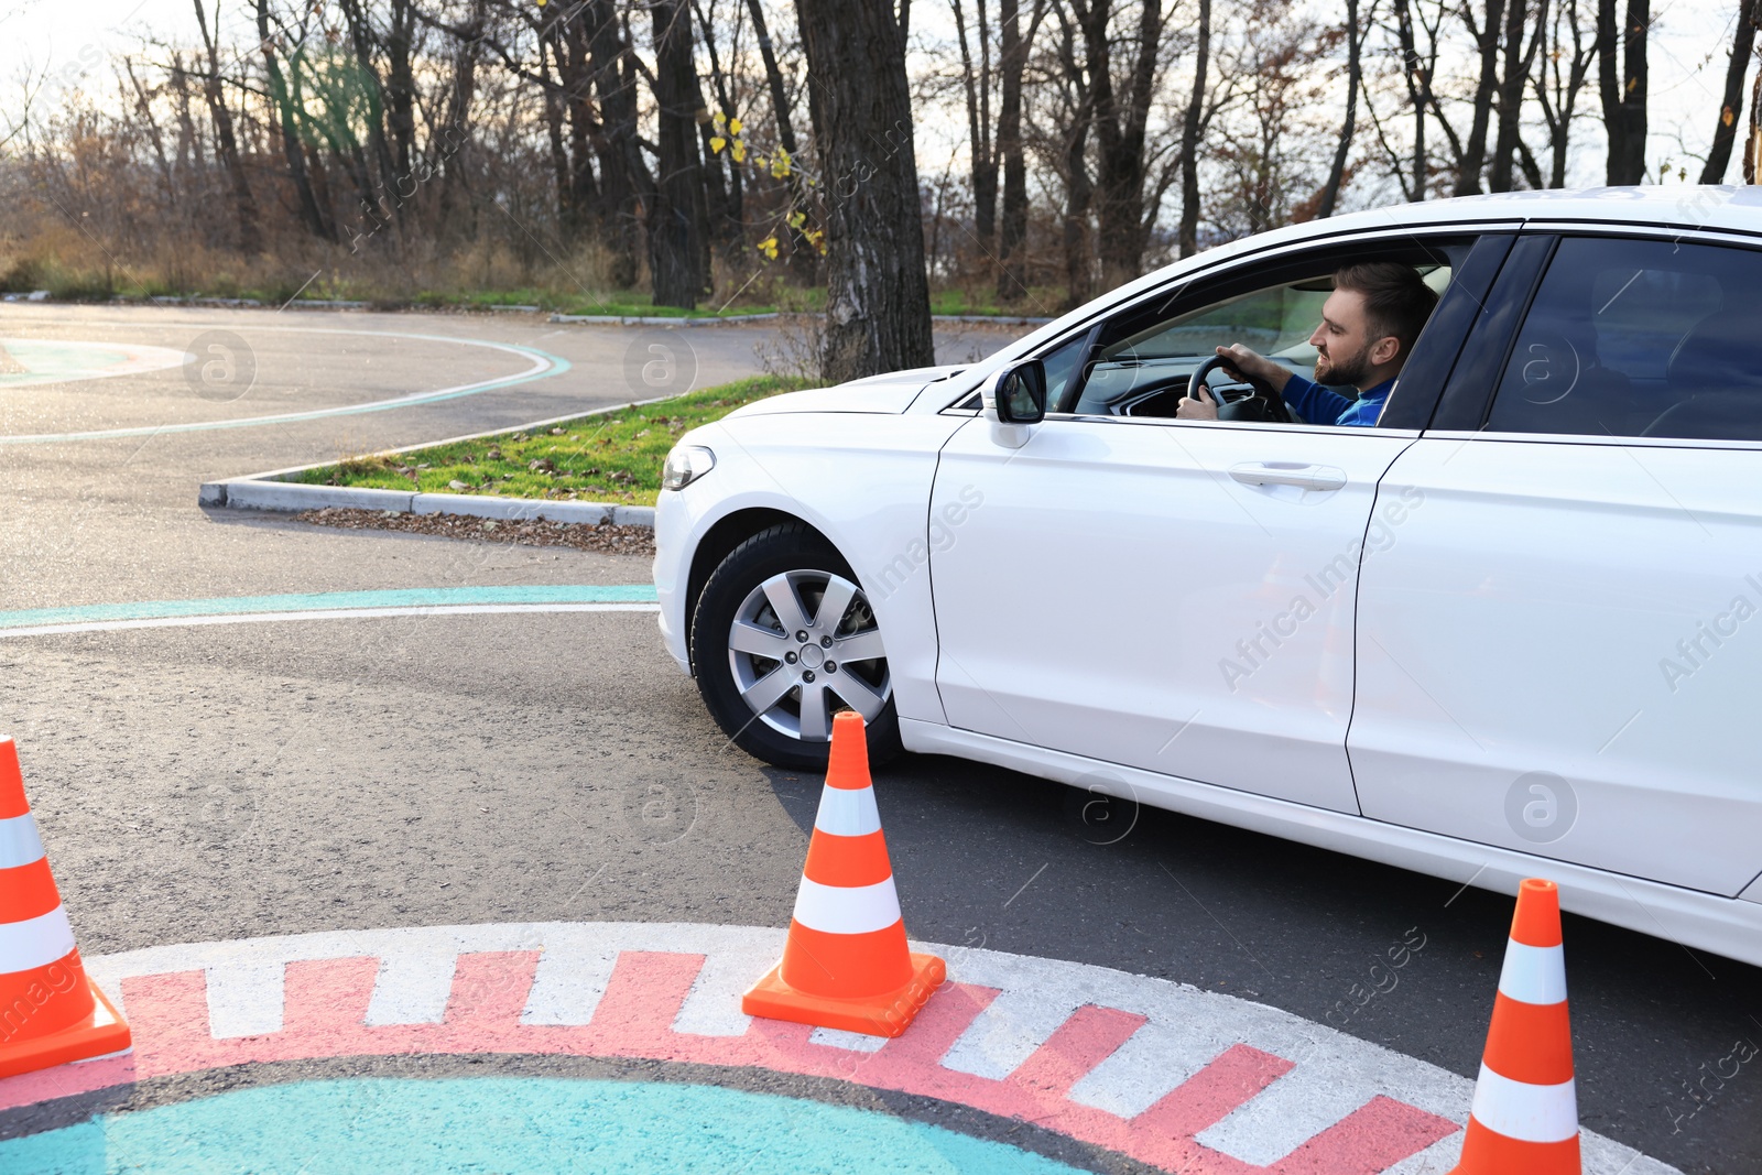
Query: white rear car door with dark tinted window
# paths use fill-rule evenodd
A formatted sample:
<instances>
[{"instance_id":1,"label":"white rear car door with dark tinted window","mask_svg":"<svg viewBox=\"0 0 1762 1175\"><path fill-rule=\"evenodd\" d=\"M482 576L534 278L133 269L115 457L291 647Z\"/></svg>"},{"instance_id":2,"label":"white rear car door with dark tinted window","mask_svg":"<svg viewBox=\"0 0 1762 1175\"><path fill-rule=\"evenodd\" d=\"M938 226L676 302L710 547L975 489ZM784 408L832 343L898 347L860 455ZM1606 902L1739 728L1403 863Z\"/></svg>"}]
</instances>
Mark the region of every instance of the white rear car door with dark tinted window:
<instances>
[{"instance_id":1,"label":"white rear car door with dark tinted window","mask_svg":"<svg viewBox=\"0 0 1762 1175\"><path fill-rule=\"evenodd\" d=\"M1512 266L1383 479L1420 506L1359 587L1364 814L1736 895L1762 868L1762 252L1565 234Z\"/></svg>"}]
</instances>

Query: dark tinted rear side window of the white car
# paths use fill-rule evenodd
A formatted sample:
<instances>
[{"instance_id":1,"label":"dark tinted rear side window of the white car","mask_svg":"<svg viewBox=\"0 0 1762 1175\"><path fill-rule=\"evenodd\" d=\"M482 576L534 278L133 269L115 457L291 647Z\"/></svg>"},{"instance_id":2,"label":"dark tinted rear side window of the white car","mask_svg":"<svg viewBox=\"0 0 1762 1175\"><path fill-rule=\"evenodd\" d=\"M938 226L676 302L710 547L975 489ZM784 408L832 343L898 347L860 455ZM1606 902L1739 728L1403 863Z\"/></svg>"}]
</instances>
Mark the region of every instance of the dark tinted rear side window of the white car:
<instances>
[{"instance_id":1,"label":"dark tinted rear side window of the white car","mask_svg":"<svg viewBox=\"0 0 1762 1175\"><path fill-rule=\"evenodd\" d=\"M1762 252L1563 240L1485 426L1762 440Z\"/></svg>"}]
</instances>

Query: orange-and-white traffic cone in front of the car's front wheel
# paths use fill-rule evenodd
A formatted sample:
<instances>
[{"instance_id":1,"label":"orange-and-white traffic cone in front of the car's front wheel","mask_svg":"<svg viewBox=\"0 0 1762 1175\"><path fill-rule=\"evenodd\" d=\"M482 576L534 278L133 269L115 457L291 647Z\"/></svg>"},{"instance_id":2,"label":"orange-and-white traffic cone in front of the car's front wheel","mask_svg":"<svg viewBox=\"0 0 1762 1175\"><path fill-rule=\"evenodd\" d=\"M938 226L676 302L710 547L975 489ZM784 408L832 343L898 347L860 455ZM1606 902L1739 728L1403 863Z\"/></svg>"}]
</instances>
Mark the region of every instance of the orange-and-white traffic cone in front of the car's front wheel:
<instances>
[{"instance_id":1,"label":"orange-and-white traffic cone in front of the car's front wheel","mask_svg":"<svg viewBox=\"0 0 1762 1175\"><path fill-rule=\"evenodd\" d=\"M740 1009L869 1036L899 1036L948 969L906 948L893 867L869 782L863 719L832 721L832 761L807 844L802 890L782 962L752 985Z\"/></svg>"}]
</instances>

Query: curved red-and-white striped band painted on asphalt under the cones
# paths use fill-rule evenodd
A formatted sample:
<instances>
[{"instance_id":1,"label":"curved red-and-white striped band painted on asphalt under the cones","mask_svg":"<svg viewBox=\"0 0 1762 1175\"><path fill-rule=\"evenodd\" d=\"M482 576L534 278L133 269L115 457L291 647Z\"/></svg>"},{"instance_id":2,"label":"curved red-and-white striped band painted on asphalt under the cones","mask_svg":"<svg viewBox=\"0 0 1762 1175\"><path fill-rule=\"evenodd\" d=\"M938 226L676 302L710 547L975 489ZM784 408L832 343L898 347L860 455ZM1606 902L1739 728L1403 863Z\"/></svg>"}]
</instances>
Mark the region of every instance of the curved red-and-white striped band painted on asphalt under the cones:
<instances>
[{"instance_id":1,"label":"curved red-and-white striped band painted on asphalt under the cones","mask_svg":"<svg viewBox=\"0 0 1762 1175\"><path fill-rule=\"evenodd\" d=\"M782 942L770 928L500 923L99 957L88 971L125 1004L136 1050L7 1078L0 1110L233 1064L564 1053L840 1078L1188 1175L1441 1175L1461 1150L1470 1078L1276 1008L1087 964L918 946L948 958L951 981L877 1048L744 1016L740 994ZM1584 1170L1674 1168L1586 1133Z\"/></svg>"}]
</instances>

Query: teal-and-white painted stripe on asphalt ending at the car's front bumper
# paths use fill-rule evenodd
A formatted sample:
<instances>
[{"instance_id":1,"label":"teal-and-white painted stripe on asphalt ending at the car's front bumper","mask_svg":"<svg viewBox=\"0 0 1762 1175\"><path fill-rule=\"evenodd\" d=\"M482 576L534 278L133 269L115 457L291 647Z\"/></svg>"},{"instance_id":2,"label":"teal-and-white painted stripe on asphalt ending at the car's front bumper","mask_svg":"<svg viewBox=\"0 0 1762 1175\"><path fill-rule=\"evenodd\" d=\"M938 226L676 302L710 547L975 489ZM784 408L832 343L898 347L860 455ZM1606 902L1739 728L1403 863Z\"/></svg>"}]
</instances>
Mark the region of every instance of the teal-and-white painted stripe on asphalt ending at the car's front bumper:
<instances>
[{"instance_id":1,"label":"teal-and-white painted stripe on asphalt ending at the car's front bumper","mask_svg":"<svg viewBox=\"0 0 1762 1175\"><path fill-rule=\"evenodd\" d=\"M115 632L271 620L469 617L509 611L657 611L650 583L534 583L511 587L388 588L160 599L0 611L0 638Z\"/></svg>"}]
</instances>

